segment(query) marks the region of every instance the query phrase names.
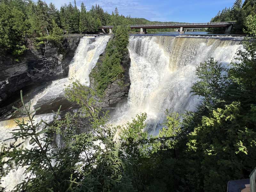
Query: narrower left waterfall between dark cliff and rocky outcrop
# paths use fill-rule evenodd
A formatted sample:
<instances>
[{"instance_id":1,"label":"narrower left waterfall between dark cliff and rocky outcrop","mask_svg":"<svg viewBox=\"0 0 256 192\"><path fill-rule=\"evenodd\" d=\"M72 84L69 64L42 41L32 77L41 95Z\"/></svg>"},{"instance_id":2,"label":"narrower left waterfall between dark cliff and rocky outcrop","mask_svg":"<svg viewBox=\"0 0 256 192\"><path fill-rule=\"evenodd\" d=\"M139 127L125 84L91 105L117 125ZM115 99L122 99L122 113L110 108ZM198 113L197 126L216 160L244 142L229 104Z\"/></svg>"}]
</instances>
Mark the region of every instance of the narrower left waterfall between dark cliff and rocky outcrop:
<instances>
[{"instance_id":1,"label":"narrower left waterfall between dark cliff and rocky outcrop","mask_svg":"<svg viewBox=\"0 0 256 192\"><path fill-rule=\"evenodd\" d=\"M104 52L110 36L99 36L96 38L83 37L80 39L75 56L69 64L68 77L52 81L44 91L37 94L32 100L32 106L42 106L46 103L53 103L62 100L65 85L77 79L82 84L90 85L89 74L95 67L100 54ZM72 80L73 79L73 80Z\"/></svg>"}]
</instances>

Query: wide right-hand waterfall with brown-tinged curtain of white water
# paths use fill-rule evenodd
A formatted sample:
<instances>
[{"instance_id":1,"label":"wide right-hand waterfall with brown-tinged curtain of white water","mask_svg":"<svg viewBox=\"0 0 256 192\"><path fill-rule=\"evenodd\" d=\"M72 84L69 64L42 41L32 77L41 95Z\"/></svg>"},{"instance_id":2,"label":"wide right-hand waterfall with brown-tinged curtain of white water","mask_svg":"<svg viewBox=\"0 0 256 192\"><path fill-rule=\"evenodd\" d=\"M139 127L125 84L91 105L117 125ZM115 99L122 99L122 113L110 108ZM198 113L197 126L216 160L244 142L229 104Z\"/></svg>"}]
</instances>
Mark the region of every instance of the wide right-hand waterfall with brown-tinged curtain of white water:
<instances>
[{"instance_id":1,"label":"wide right-hand waterfall with brown-tinged curtain of white water","mask_svg":"<svg viewBox=\"0 0 256 192\"><path fill-rule=\"evenodd\" d=\"M238 39L239 40L239 39ZM236 38L130 36L131 87L128 102L111 118L124 124L146 112L147 131L156 135L165 109L194 111L200 99L190 93L196 64L214 57L227 65L242 48Z\"/></svg>"}]
</instances>

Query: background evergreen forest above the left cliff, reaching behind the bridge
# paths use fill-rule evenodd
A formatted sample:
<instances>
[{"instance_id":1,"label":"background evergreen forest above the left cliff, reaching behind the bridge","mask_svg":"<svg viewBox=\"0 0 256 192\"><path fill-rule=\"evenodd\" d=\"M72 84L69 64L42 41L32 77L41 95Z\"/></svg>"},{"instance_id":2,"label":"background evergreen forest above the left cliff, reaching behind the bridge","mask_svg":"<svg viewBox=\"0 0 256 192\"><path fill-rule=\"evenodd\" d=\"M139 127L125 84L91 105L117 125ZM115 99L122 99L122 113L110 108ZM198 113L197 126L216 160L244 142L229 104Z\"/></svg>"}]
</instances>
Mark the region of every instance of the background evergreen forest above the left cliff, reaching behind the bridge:
<instances>
[{"instance_id":1,"label":"background evergreen forest above the left cliff, reaching behind the bridge","mask_svg":"<svg viewBox=\"0 0 256 192\"><path fill-rule=\"evenodd\" d=\"M74 1L74 5L64 4L58 10L53 3L48 5L42 0L3 0L0 2L0 53L19 56L28 48L28 39L38 46L44 41L60 42L64 33L97 34L101 25L153 23L161 22L125 17L117 8L109 14L99 4L87 10L83 2L78 8ZM151 29L154 31L157 30Z\"/></svg>"}]
</instances>

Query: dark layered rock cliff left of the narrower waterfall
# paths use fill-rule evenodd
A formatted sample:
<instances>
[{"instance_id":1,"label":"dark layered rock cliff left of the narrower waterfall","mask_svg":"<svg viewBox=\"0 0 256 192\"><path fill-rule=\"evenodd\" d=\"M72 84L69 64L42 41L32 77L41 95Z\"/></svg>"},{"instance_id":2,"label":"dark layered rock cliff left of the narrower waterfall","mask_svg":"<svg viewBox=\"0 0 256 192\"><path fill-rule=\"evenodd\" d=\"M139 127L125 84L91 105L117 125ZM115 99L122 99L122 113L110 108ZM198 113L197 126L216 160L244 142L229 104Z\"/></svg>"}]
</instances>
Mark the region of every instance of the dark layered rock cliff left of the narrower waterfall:
<instances>
[{"instance_id":1,"label":"dark layered rock cliff left of the narrower waterfall","mask_svg":"<svg viewBox=\"0 0 256 192\"><path fill-rule=\"evenodd\" d=\"M28 49L19 62L12 56L0 55L0 115L19 98L20 89L26 90L28 86L33 89L67 76L68 65L83 36L65 36L60 47L46 43L40 49Z\"/></svg>"}]
</instances>

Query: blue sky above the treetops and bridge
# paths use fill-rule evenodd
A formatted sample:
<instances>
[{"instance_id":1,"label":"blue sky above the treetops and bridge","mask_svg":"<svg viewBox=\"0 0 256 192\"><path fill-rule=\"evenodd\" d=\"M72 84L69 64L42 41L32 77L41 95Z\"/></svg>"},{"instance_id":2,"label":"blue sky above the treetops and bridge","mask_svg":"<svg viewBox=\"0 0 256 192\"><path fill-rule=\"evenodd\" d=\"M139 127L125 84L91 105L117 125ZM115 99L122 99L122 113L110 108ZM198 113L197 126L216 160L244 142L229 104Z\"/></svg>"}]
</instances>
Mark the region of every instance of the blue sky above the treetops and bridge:
<instances>
[{"instance_id":1,"label":"blue sky above the treetops and bridge","mask_svg":"<svg viewBox=\"0 0 256 192\"><path fill-rule=\"evenodd\" d=\"M60 8L70 0L46 0ZM72 2L73 1L73 2ZM74 4L74 0L71 3ZM151 21L208 22L219 10L231 7L235 0L76 0L84 2L87 10L100 4L104 11L111 13L118 8L120 14L145 18Z\"/></svg>"}]
</instances>

